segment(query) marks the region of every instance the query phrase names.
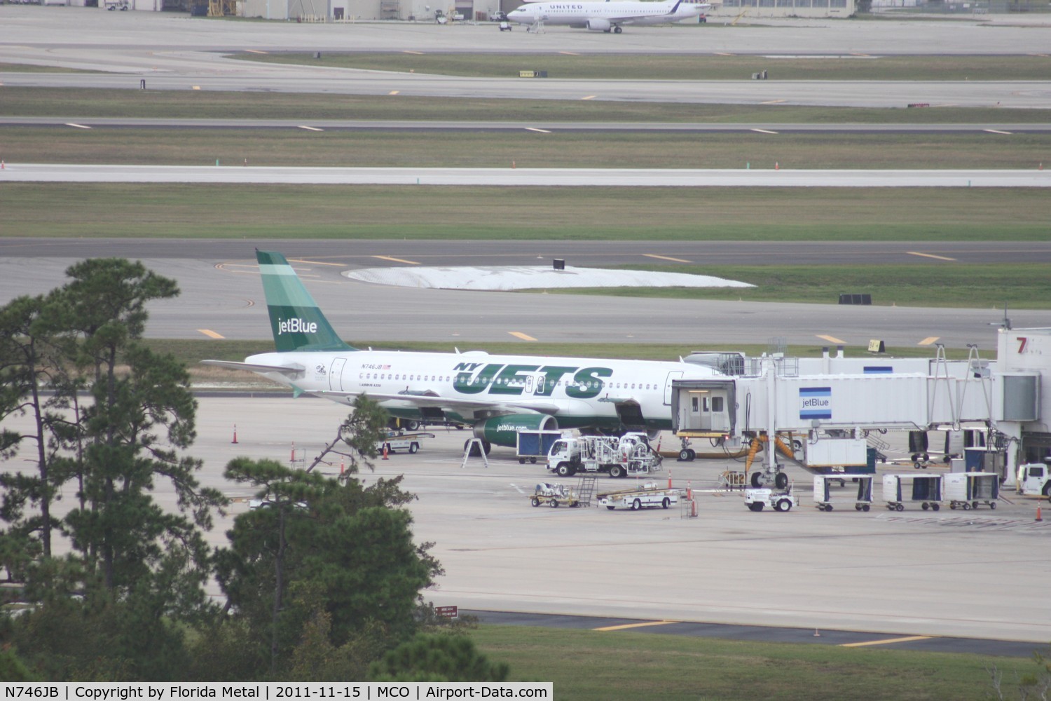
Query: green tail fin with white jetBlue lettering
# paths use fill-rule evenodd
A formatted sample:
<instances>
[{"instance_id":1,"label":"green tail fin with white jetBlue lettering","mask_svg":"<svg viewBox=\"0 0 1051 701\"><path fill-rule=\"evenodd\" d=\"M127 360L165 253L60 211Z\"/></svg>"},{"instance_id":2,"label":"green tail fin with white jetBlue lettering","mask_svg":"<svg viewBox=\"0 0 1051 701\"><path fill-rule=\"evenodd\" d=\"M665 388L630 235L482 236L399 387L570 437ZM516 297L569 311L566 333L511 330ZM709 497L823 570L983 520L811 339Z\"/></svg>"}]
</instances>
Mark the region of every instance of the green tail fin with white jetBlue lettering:
<instances>
[{"instance_id":1,"label":"green tail fin with white jetBlue lettering","mask_svg":"<svg viewBox=\"0 0 1051 701\"><path fill-rule=\"evenodd\" d=\"M270 311L273 345L285 351L352 351L317 308L303 281L281 253L255 250Z\"/></svg>"}]
</instances>

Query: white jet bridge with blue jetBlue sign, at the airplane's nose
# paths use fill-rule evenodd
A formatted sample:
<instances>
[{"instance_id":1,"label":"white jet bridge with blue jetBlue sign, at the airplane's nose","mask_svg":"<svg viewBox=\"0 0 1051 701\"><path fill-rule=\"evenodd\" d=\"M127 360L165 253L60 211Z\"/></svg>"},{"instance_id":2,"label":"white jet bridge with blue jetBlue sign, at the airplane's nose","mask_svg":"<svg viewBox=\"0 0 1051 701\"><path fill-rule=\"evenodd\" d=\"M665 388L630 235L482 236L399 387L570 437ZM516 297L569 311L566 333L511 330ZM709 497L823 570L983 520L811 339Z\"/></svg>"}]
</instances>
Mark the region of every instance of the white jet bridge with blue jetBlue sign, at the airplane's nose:
<instances>
[{"instance_id":1,"label":"white jet bridge with blue jetBlue sign, at the airplane's nose","mask_svg":"<svg viewBox=\"0 0 1051 701\"><path fill-rule=\"evenodd\" d=\"M1007 367L1002 360L998 371L974 347L966 360L947 360L941 347L933 358L845 358L842 348L836 356L825 349L821 358L695 353L685 359L726 374L673 383L674 431L751 441L751 455L772 439L779 450L764 452L757 483L778 480L779 452L804 467L824 463L830 454L843 454L844 466L859 466L871 461L865 438L874 432L980 428L994 449L1019 449L1002 475L1013 480L1019 455L1028 460L1037 452L1051 454L1051 430L1040 420L1051 407L1040 406L1048 393L1039 391L1043 376L1051 377L1051 329L1010 342L1025 347L1013 354L1005 349L1004 333L1000 356L1013 357ZM833 448L828 441L841 442Z\"/></svg>"}]
</instances>

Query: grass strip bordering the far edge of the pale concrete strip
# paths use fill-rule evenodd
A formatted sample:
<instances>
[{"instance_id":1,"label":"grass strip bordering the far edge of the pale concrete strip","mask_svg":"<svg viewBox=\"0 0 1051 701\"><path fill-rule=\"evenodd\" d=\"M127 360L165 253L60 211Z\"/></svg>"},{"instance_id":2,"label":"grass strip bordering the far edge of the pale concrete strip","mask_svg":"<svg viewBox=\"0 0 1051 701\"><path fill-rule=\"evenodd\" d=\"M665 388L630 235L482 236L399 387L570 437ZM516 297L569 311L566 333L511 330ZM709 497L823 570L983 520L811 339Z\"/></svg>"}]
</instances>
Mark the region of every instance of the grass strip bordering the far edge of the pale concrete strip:
<instances>
[{"instance_id":1,"label":"grass strip bordering the far edge of the pale concrete strip","mask_svg":"<svg viewBox=\"0 0 1051 701\"><path fill-rule=\"evenodd\" d=\"M456 168L1051 168L1051 133L5 127L7 163Z\"/></svg>"}]
</instances>

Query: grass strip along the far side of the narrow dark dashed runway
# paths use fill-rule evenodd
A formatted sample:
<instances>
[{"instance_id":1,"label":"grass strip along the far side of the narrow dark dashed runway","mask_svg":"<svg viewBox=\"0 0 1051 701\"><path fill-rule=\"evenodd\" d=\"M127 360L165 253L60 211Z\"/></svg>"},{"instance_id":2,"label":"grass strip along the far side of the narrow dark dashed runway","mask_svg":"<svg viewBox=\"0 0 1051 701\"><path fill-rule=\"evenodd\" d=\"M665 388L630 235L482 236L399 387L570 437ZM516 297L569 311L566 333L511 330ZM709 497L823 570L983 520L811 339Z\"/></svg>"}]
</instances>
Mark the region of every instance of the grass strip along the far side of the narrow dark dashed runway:
<instances>
[{"instance_id":1,"label":"grass strip along the far side of the narrow dark dashed runway","mask_svg":"<svg viewBox=\"0 0 1051 701\"><path fill-rule=\"evenodd\" d=\"M1046 59L1045 59L1046 60ZM517 79L515 79L517 80ZM446 120L558 122L753 122L809 124L1044 124L1051 109L931 107L864 109L599 100L482 100L412 96L105 90L4 87L5 117L164 119ZM302 122L301 122L302 123ZM232 132L232 130L231 130Z\"/></svg>"}]
</instances>

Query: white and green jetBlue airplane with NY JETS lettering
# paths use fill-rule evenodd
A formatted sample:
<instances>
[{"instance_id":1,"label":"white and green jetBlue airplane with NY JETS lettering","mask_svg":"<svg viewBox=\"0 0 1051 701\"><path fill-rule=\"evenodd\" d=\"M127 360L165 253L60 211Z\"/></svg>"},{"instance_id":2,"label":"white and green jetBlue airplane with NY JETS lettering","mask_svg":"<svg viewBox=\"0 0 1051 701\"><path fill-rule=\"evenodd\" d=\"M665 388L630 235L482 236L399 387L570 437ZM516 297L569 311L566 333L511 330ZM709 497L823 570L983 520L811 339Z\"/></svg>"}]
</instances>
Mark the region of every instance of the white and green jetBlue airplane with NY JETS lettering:
<instances>
[{"instance_id":1,"label":"white and green jetBlue airplane with NY JETS lettering","mask_svg":"<svg viewBox=\"0 0 1051 701\"><path fill-rule=\"evenodd\" d=\"M296 396L351 405L367 394L392 416L467 424L486 452L490 444L514 447L520 430L671 429L672 380L716 376L682 360L358 350L336 335L284 255L255 256L275 352L203 363L251 370Z\"/></svg>"}]
</instances>

